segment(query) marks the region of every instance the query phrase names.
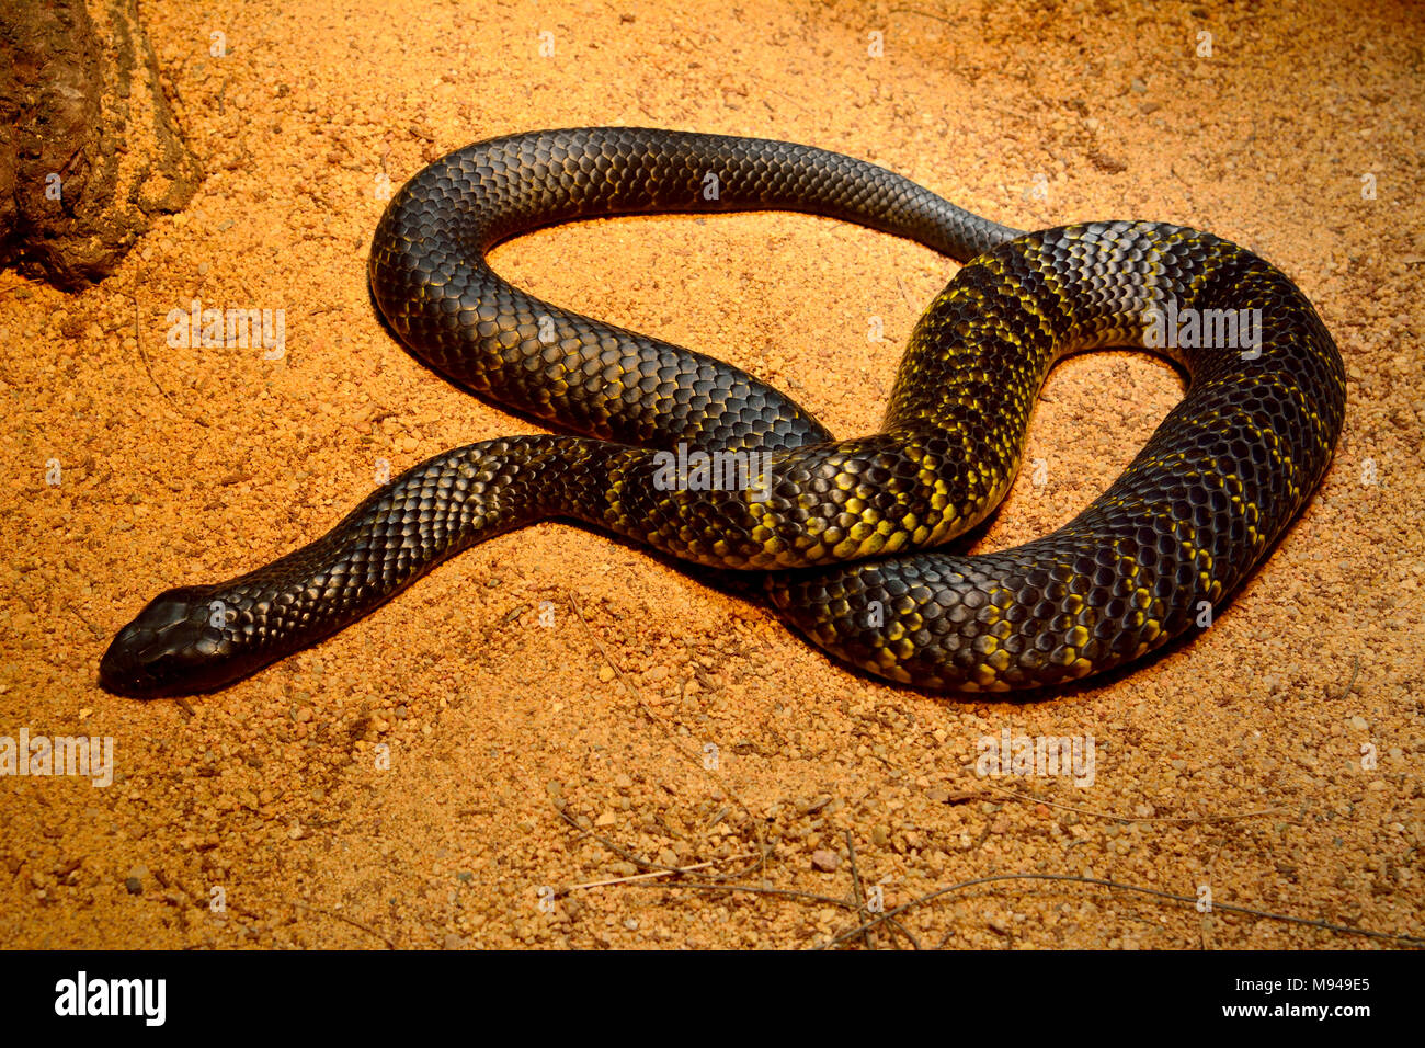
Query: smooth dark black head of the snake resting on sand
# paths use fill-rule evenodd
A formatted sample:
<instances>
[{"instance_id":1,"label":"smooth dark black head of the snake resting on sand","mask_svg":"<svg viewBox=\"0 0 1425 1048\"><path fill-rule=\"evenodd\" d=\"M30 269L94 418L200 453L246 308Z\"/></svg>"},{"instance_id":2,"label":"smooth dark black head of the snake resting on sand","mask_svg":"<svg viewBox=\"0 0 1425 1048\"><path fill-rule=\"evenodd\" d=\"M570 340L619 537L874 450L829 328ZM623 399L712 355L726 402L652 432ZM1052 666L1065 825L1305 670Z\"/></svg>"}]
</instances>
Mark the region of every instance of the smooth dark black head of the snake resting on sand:
<instances>
[{"instance_id":1,"label":"smooth dark black head of the snake resting on sand","mask_svg":"<svg viewBox=\"0 0 1425 1048\"><path fill-rule=\"evenodd\" d=\"M212 586L160 593L124 626L98 663L98 683L115 694L152 699L205 692L232 679L232 642L211 623Z\"/></svg>"}]
</instances>

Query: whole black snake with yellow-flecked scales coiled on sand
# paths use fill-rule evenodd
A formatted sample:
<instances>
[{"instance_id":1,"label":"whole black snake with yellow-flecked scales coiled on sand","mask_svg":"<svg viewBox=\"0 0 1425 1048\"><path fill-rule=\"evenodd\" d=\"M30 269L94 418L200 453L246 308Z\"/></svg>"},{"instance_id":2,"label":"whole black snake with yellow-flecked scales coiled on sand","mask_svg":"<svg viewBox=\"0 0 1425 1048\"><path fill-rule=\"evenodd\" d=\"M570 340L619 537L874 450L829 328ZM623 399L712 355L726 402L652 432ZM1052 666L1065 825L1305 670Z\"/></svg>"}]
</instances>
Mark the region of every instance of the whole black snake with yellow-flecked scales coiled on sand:
<instances>
[{"instance_id":1,"label":"whole black snake with yellow-flecked scales coiled on sand","mask_svg":"<svg viewBox=\"0 0 1425 1048\"><path fill-rule=\"evenodd\" d=\"M838 439L748 372L542 301L486 261L560 222L755 210L960 264L909 335L878 432ZM439 453L281 559L160 593L103 654L108 690L225 687L547 519L760 573L775 615L898 684L1054 687L1200 630L1320 485L1345 413L1325 325L1243 247L1147 221L1026 232L879 165L764 138L590 127L467 145L390 197L368 284L420 361L559 432ZM1009 492L1050 368L1114 346L1187 376L1121 475L1025 545L942 549Z\"/></svg>"}]
</instances>

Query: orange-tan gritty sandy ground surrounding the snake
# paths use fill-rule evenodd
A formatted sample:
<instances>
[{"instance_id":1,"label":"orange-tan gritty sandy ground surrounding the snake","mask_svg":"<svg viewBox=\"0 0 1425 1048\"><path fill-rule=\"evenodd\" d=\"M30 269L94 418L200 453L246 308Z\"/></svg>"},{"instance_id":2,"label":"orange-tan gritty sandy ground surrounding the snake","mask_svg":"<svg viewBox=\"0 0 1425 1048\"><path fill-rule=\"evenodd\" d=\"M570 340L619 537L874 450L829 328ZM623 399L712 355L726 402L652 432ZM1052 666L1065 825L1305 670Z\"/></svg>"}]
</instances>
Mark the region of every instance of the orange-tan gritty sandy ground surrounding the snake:
<instances>
[{"instance_id":1,"label":"orange-tan gritty sandy ground surrounding the snake","mask_svg":"<svg viewBox=\"0 0 1425 1048\"><path fill-rule=\"evenodd\" d=\"M0 944L807 947L856 927L858 883L892 908L1016 873L1214 905L1002 880L851 944L1401 942L1226 905L1425 937L1425 17L1394 0L913 7L142 6L204 187L88 292L0 275L0 736L114 754L107 787L0 780ZM477 138L608 123L824 145L1020 227L1154 218L1253 247L1347 358L1335 463L1210 630L1029 703L854 674L758 603L553 523L219 694L101 692L104 646L158 590L321 535L380 459L395 473L530 429L378 324L380 191ZM777 214L563 227L494 264L750 368L848 435L875 426L955 271ZM285 356L170 348L165 317L192 299L284 309ZM1026 456L1043 483L1026 469L978 548L1073 516L1180 392L1144 355L1063 364ZM1092 784L978 776L980 740L1006 730L1092 739ZM576 887L646 864L819 898Z\"/></svg>"}]
</instances>

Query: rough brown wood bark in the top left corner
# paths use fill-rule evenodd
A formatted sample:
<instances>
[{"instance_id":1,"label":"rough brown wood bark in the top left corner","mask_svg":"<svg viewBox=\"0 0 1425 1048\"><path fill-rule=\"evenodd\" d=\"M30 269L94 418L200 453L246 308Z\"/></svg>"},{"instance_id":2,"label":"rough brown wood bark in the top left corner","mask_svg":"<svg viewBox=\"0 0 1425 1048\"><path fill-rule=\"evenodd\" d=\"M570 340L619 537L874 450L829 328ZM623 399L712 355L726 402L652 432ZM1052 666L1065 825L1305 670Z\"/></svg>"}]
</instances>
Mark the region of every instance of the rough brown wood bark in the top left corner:
<instances>
[{"instance_id":1,"label":"rough brown wood bark in the top left corner","mask_svg":"<svg viewBox=\"0 0 1425 1048\"><path fill-rule=\"evenodd\" d=\"M201 177L137 0L0 0L0 265L103 279Z\"/></svg>"}]
</instances>

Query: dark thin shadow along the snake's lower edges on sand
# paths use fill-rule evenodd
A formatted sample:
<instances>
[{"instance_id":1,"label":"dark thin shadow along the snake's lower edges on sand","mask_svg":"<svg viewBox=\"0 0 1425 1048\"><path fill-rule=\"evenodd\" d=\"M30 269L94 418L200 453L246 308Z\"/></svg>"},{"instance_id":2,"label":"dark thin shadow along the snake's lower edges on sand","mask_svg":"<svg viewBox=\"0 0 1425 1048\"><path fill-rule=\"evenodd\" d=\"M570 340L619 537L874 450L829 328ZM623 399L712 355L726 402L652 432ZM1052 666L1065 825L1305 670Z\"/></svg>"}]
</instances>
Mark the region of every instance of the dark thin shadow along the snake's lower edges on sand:
<instances>
[{"instance_id":1,"label":"dark thin shadow along the snake's lower edges on sand","mask_svg":"<svg viewBox=\"0 0 1425 1048\"><path fill-rule=\"evenodd\" d=\"M465 382L462 382L462 381L459 381L456 378L452 378L450 375L445 374L439 368L435 368L430 364L428 364L426 361L420 359L420 356L418 356L416 354L410 352L406 348L406 344L400 339L400 335L396 334L396 331L390 327L390 324L382 315L380 308L376 305L376 297L375 297L375 292L370 288L370 282L369 281L366 284L366 295L368 295L368 301L370 302L370 311L376 317L376 322L386 331L386 334L390 335L390 338L396 342L396 345L399 345L403 351L406 351L406 355L410 356L410 359L413 359L416 364L420 365L422 369L425 369L425 371L430 372L432 375L437 376L442 382L446 382L447 385L452 385L452 386L460 389L462 392L469 394L470 396L475 396L482 404L486 404L486 405L494 408L496 411L499 411L499 412L502 412L504 415L509 415L509 416L512 416L514 419L520 419L522 422L527 422L529 425L532 425L537 431L546 431L547 432L550 429L557 429L556 426L550 425L549 419L542 419L539 416L534 416L534 415L530 415L527 412L523 412L523 411L520 411L517 408L512 408L512 406L509 406L506 404L500 404L499 401L496 401L496 399L493 399L493 398L482 394L477 389L470 388ZM1305 505L1311 505L1311 500L1314 500L1315 498L1317 498L1317 493L1312 492L1311 499L1308 499ZM963 535L959 535L955 539L943 543L942 546L938 546L936 549L939 552L955 555L955 556L965 555L976 542L979 542L985 536L985 533L993 525L995 519L999 516L999 513L1000 513L1002 509L1003 509L1003 503L1000 503L999 506L996 506L995 510L983 522L980 522L978 526L975 526L970 530L965 532ZM1170 657L1181 653L1184 649L1190 647L1197 640L1197 637L1201 633L1206 632L1206 629L1200 629L1200 627L1190 629L1190 630L1187 630L1184 633L1180 633L1178 636L1173 637L1171 640L1168 640L1167 643L1164 643L1161 647L1157 647L1153 652L1149 652L1147 654L1143 654L1143 656L1140 656L1137 659L1131 659L1130 662L1127 662L1127 663L1124 663L1121 666L1116 666L1116 667L1113 667L1110 670L1103 670L1100 673L1094 673L1094 674L1092 674L1090 677L1087 677L1084 680L1069 682L1069 683L1057 684L1057 686L1052 686L1052 687L1030 689L1027 692L958 692L958 690L946 690L946 689L919 687L916 684L902 684L902 683L895 682L895 680L888 680L885 677L879 677L879 676L876 676L874 673L869 673L869 672L866 672L866 670L864 670L864 669L861 669L858 666L852 666L851 663L842 662L842 660L839 660L839 659L828 654L826 652L824 652L822 649L819 649L817 644L814 644L811 640L808 640L805 636L802 636L801 632L798 632L797 629L794 629L789 625L784 623L781 620L781 617L777 615L777 609L762 595L762 582L761 582L762 575L761 575L761 572L727 570L727 569L718 569L718 567L708 567L705 565L691 563L691 562L687 562L687 560L680 560L680 559L677 559L674 556L663 553L663 552L660 552L657 549L653 549L650 546L644 546L644 545L640 545L637 542L633 542L631 539L626 539L621 535L614 535L611 532L606 532L606 530L601 530L598 528L594 528L594 526L591 526L591 525L589 525L589 523L586 523L583 520L574 520L574 519L569 519L569 518L557 518L557 520L560 523L569 525L569 526L576 528L579 530L584 530L584 532L589 532L591 535L598 535L598 536L601 536L604 539L608 539L608 540L611 540L611 542L614 542L614 543L617 543L620 546L624 546L626 549L636 550L640 556L646 556L646 558L650 558L650 559L653 559L653 560L656 560L658 563L663 563L664 566L667 566L667 567L678 572L684 577L691 579L691 580L697 582L698 585L705 586L705 587L708 587L708 589L711 589L711 590L714 590L717 593L722 593L724 596L735 597L738 600L744 600L745 603L755 605L755 606L761 607L762 610L767 612L768 616L771 616L772 619L777 619L784 626L784 629L787 629L789 633L792 633L794 636L797 636L798 640L801 640L801 643L804 643L804 644L807 644L807 647L815 650L828 664L835 666L836 669L839 669L842 673L845 673L848 676L858 677L858 679L861 679L862 682L865 682L868 684L879 684L882 687L896 687L896 689L901 689L903 692L911 692L911 693L915 693L915 694L921 694L925 699L929 699L932 702L942 702L942 703L946 703L946 702L996 703L996 704L1007 704L1007 706L1032 706L1032 704L1040 704L1040 703L1046 703L1046 702L1072 702L1074 699L1082 699L1082 697L1084 697L1087 694L1097 693L1097 692L1100 692L1103 689L1114 687L1119 683L1121 683L1124 679L1127 679L1127 677L1130 677L1130 676L1133 676L1136 673L1140 673L1144 667L1151 666L1151 664L1154 664L1157 662L1161 662L1163 659L1170 659ZM1273 558L1273 555L1277 550L1277 546L1281 545L1281 540L1291 530L1291 523L1294 523L1294 522L1295 522L1295 518L1292 518L1292 522L1290 522L1288 526L1285 526L1282 529L1281 535L1278 535L1277 539L1268 546L1268 549L1267 549L1267 552L1263 556L1263 559L1261 559L1260 563L1265 565L1267 560L1270 560ZM1235 603L1237 596L1241 592L1244 592L1245 589L1248 589L1250 586L1253 586L1255 582L1257 582L1257 576L1253 575L1241 586L1238 586L1237 590L1234 590L1233 593L1228 593L1226 597L1221 597L1213 606L1213 623L1216 625L1217 622L1220 622L1221 616L1226 612L1228 612L1228 609L1233 606L1233 603ZM1211 629L1211 627L1207 627L1207 629Z\"/></svg>"}]
</instances>

